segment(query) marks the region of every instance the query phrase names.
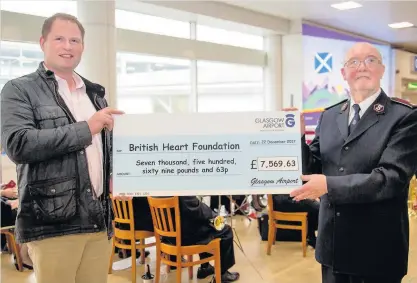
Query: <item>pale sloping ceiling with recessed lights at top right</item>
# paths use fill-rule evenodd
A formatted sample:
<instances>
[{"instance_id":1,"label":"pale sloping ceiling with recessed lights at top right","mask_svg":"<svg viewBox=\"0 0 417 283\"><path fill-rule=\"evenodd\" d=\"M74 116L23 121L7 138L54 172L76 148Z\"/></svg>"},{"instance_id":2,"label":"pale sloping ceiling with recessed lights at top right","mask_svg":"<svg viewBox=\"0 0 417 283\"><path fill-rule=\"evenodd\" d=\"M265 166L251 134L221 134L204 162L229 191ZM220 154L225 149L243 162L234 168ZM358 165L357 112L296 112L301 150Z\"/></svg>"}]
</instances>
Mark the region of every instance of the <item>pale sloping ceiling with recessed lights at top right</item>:
<instances>
[{"instance_id":1,"label":"pale sloping ceiling with recessed lights at top right","mask_svg":"<svg viewBox=\"0 0 417 283\"><path fill-rule=\"evenodd\" d=\"M339 11L330 6L342 0L229 0L222 2L289 20L307 20L389 42L417 53L417 27L407 29L388 27L388 24L406 21L417 26L417 1L355 1L363 6L346 11Z\"/></svg>"}]
</instances>

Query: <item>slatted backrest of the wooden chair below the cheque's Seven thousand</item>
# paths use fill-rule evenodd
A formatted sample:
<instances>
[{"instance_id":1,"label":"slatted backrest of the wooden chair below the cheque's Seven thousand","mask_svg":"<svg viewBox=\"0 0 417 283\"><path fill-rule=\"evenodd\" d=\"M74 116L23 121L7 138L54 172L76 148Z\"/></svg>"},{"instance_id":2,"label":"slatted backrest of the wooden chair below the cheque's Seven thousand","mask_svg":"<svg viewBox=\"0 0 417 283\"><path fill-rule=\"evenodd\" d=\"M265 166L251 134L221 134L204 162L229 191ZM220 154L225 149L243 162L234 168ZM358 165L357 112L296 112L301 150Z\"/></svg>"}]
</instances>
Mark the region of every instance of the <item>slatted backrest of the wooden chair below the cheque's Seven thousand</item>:
<instances>
[{"instance_id":1,"label":"slatted backrest of the wooden chair below the cheque's Seven thousand","mask_svg":"<svg viewBox=\"0 0 417 283\"><path fill-rule=\"evenodd\" d=\"M179 198L174 197L148 197L154 225L155 238L175 238L176 246L181 246L181 217Z\"/></svg>"}]
</instances>

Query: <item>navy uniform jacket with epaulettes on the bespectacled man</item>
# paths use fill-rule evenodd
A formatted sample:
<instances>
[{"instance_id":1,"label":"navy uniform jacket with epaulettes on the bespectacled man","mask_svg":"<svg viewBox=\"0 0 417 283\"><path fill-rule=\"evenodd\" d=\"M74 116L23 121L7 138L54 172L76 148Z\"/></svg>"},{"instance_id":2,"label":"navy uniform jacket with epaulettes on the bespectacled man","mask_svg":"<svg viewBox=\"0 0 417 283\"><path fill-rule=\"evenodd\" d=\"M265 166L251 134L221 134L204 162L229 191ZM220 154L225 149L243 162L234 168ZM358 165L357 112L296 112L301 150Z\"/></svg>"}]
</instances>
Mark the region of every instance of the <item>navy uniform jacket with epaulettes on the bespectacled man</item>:
<instances>
[{"instance_id":1,"label":"navy uniform jacket with epaulettes on the bespectacled man","mask_svg":"<svg viewBox=\"0 0 417 283\"><path fill-rule=\"evenodd\" d=\"M348 135L349 102L321 115L303 170L324 174L316 259L335 272L407 273L409 182L417 169L417 109L383 91Z\"/></svg>"}]
</instances>

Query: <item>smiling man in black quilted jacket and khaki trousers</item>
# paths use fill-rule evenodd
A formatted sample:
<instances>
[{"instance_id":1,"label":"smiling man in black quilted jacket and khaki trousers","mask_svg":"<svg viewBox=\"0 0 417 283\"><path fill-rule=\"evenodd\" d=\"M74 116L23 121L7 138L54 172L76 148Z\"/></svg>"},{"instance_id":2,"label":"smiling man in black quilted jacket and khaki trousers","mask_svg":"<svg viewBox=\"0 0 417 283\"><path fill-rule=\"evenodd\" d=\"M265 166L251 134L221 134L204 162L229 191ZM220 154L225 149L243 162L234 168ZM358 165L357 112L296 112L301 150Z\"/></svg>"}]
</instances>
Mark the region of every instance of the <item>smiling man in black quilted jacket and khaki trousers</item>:
<instances>
[{"instance_id":1,"label":"smiling man in black quilted jacket and khaki trousers","mask_svg":"<svg viewBox=\"0 0 417 283\"><path fill-rule=\"evenodd\" d=\"M42 283L107 282L112 115L122 112L74 72L84 34L71 15L46 19L44 62L1 92L2 145L17 166L16 237Z\"/></svg>"}]
</instances>

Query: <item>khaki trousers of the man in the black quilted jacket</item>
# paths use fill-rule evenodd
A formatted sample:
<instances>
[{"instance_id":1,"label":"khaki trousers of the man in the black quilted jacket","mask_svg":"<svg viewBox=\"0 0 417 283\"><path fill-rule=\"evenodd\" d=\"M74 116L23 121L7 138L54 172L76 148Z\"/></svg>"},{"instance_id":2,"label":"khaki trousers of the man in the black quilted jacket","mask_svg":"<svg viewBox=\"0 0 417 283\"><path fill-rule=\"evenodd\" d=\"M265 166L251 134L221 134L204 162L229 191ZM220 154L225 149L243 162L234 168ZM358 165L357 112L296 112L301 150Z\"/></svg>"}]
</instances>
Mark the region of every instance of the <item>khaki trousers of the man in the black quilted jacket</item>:
<instances>
[{"instance_id":1,"label":"khaki trousers of the man in the black quilted jacket","mask_svg":"<svg viewBox=\"0 0 417 283\"><path fill-rule=\"evenodd\" d=\"M106 232L28 243L38 283L106 283L112 240Z\"/></svg>"}]
</instances>

